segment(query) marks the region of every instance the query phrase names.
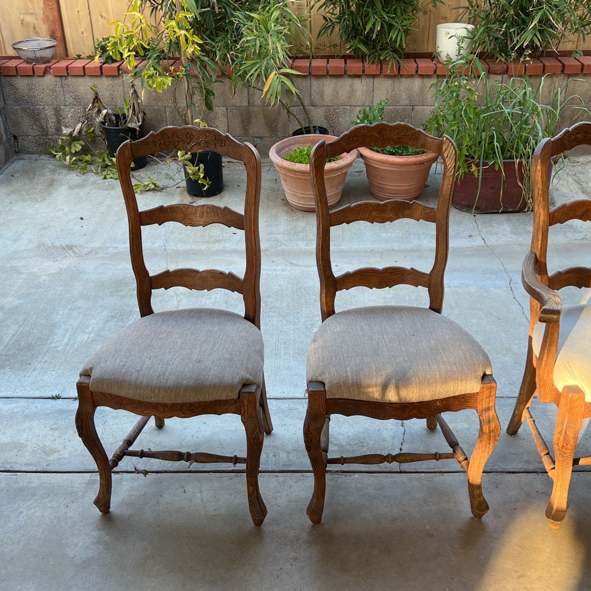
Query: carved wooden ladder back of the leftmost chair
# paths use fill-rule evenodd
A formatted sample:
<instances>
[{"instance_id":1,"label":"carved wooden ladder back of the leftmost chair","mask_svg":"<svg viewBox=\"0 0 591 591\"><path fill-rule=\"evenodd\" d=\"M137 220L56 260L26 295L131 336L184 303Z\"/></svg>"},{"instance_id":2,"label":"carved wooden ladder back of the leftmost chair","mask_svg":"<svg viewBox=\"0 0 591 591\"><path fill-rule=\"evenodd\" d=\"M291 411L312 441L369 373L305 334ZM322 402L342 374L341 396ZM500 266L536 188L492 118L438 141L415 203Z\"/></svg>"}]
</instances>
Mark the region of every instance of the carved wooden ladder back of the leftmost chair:
<instances>
[{"instance_id":1,"label":"carved wooden ladder back of the leftmost chair","mask_svg":"<svg viewBox=\"0 0 591 591\"><path fill-rule=\"evenodd\" d=\"M131 181L132 160L167 150L185 152L213 150L222 156L242 161L246 169L244 213L209 203L200 205L177 203L140 211ZM119 183L121 183L129 222L129 250L141 316L154 313L151 304L152 290L186 287L190 290L209 291L222 288L242 294L245 319L260 328L261 245L258 213L261 196L261 158L255 147L248 142L241 144L217 129L197 128L190 125L170 126L158 132L151 132L138 141L126 141L117 151L116 158ZM167 269L157 275L150 275L144 262L141 227L154 223L161 225L166 222L178 222L184 226L209 226L212 223L220 223L229 228L243 230L246 242L244 277L217 269L199 271L190 268Z\"/></svg>"}]
</instances>

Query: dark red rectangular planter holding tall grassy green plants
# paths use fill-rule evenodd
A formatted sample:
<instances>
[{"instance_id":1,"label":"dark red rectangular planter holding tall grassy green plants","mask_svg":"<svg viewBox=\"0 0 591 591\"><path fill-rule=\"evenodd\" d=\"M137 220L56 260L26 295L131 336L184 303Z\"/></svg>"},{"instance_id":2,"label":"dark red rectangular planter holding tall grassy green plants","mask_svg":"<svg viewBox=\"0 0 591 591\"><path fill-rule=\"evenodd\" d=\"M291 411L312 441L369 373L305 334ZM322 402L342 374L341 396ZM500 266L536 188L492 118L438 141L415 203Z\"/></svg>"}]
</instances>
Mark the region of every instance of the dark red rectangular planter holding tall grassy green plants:
<instances>
[{"instance_id":1,"label":"dark red rectangular planter holding tall grassy green plants","mask_svg":"<svg viewBox=\"0 0 591 591\"><path fill-rule=\"evenodd\" d=\"M476 167L480 168L479 163ZM528 205L523 195L524 167L515 160L503 162L505 181L501 169L495 170L493 164L483 163L480 193L478 192L479 177L466 174L457 178L453 187L452 204L463 212L475 213L515 213L524 212ZM552 167L548 168L548 183ZM502 194L501 194L502 187ZM478 198L476 197L478 196Z\"/></svg>"}]
</instances>

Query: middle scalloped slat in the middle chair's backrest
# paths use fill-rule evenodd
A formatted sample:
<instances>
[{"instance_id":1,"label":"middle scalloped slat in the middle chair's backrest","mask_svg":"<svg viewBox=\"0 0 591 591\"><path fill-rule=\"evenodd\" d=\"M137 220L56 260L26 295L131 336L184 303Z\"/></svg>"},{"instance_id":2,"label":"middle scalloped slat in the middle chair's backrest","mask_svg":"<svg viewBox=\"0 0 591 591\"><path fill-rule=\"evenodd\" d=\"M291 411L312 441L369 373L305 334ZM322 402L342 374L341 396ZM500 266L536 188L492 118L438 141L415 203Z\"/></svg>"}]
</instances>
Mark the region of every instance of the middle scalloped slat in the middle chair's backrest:
<instances>
[{"instance_id":1,"label":"middle scalloped slat in the middle chair's backrest","mask_svg":"<svg viewBox=\"0 0 591 591\"><path fill-rule=\"evenodd\" d=\"M339 226L343 223L369 222L387 223L399 219L423 220L435 223L437 210L428 207L418 201L363 201L353 205L346 205L330 214L330 226Z\"/></svg>"}]
</instances>

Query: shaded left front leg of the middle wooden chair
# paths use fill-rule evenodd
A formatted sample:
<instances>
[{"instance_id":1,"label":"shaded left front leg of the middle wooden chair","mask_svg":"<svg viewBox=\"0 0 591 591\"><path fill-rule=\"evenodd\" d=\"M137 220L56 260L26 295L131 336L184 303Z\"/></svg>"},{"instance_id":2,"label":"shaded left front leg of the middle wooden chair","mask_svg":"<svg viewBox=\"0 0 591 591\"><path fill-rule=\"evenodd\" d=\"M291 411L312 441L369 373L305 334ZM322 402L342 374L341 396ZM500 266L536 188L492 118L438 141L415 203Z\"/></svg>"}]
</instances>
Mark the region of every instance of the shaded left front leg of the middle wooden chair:
<instances>
[{"instance_id":1,"label":"shaded left front leg of the middle wooden chair","mask_svg":"<svg viewBox=\"0 0 591 591\"><path fill-rule=\"evenodd\" d=\"M314 525L322 521L326 492L326 465L322 453L322 433L326 424L326 391L324 384L308 384L308 410L304 420L304 444L314 472L314 492L306 515ZM328 432L326 431L326 436Z\"/></svg>"}]
</instances>

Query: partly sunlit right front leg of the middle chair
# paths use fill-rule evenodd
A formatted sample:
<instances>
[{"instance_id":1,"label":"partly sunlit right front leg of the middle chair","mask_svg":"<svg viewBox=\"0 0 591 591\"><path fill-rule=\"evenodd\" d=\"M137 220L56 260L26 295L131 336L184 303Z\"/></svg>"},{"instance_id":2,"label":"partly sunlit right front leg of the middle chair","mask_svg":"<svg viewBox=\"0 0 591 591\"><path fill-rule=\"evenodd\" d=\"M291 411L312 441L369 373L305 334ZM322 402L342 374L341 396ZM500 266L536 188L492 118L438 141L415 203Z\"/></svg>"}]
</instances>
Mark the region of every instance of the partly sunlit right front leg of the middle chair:
<instances>
[{"instance_id":1,"label":"partly sunlit right front leg of the middle chair","mask_svg":"<svg viewBox=\"0 0 591 591\"><path fill-rule=\"evenodd\" d=\"M495 398L496 382L492 376L485 376L478 397L477 412L480 430L468 466L470 509L476 519L481 519L489 510L488 503L482 494L482 471L501 434L501 423L495 410Z\"/></svg>"}]
</instances>

